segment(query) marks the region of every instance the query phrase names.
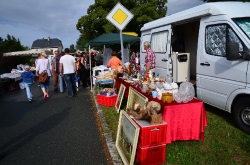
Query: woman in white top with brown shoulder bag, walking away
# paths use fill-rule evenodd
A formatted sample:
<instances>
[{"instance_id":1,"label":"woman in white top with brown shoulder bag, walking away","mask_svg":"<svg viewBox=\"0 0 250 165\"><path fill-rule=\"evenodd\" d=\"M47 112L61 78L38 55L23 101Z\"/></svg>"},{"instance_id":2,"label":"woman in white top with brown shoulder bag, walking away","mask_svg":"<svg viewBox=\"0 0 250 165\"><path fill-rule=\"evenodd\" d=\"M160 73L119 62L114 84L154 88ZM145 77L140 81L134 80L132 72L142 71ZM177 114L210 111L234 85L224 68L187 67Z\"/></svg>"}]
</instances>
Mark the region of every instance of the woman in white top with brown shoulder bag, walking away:
<instances>
[{"instance_id":1,"label":"woman in white top with brown shoulder bag, walking away","mask_svg":"<svg viewBox=\"0 0 250 165\"><path fill-rule=\"evenodd\" d=\"M50 70L50 62L47 59L47 55L42 52L40 59L37 60L37 66L36 66L36 75L41 74L43 71L47 71L48 79L44 83L40 83L40 87L43 92L44 98L49 97L49 80L50 76L52 76L51 70Z\"/></svg>"}]
</instances>

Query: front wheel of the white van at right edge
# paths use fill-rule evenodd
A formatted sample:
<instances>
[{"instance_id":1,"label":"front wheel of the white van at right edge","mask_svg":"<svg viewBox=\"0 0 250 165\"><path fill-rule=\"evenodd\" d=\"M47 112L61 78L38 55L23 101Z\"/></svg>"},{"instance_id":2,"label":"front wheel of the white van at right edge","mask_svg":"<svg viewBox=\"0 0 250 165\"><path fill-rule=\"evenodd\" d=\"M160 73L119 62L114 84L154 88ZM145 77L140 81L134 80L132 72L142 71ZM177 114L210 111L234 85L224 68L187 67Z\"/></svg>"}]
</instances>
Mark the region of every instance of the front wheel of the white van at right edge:
<instances>
[{"instance_id":1,"label":"front wheel of the white van at right edge","mask_svg":"<svg viewBox=\"0 0 250 165\"><path fill-rule=\"evenodd\" d=\"M241 97L233 105L233 118L238 126L246 134L250 135L250 97Z\"/></svg>"}]
</instances>

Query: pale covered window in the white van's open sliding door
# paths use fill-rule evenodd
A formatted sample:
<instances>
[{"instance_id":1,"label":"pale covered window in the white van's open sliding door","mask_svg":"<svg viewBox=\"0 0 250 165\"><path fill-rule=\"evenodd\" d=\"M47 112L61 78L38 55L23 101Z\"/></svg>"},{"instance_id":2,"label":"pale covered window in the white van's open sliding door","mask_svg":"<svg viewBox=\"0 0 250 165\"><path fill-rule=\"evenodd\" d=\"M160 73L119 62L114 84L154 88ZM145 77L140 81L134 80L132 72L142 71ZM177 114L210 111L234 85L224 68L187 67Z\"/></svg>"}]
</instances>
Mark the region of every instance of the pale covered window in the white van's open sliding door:
<instances>
[{"instance_id":1,"label":"pale covered window in the white van's open sliding door","mask_svg":"<svg viewBox=\"0 0 250 165\"><path fill-rule=\"evenodd\" d=\"M161 31L152 34L151 49L157 53L167 52L168 31Z\"/></svg>"}]
</instances>

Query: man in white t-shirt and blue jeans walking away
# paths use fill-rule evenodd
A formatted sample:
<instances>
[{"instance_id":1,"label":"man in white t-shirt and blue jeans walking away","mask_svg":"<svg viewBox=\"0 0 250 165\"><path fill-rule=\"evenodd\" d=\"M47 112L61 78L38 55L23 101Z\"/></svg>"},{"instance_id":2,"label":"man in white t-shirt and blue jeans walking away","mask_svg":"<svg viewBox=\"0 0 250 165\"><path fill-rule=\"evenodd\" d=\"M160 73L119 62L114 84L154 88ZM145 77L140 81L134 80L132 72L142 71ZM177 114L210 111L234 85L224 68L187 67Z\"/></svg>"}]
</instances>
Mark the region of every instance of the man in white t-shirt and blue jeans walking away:
<instances>
[{"instance_id":1,"label":"man in white t-shirt and blue jeans walking away","mask_svg":"<svg viewBox=\"0 0 250 165\"><path fill-rule=\"evenodd\" d=\"M76 95L76 82L75 82L75 73L76 73L76 64L75 58L69 54L69 48L64 49L65 55L60 58L60 76L64 77L68 97L72 98Z\"/></svg>"}]
</instances>

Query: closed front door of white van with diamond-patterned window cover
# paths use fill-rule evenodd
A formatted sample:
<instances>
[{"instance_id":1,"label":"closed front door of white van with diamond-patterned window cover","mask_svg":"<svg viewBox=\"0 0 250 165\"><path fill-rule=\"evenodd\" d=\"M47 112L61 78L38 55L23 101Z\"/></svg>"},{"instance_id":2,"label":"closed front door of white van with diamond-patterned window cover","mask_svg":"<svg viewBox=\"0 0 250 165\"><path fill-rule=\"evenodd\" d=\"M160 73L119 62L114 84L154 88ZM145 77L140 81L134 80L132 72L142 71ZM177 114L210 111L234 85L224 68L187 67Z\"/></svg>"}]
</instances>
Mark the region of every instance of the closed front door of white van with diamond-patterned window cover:
<instances>
[{"instance_id":1,"label":"closed front door of white van with diamond-patterned window cover","mask_svg":"<svg viewBox=\"0 0 250 165\"><path fill-rule=\"evenodd\" d=\"M216 21L214 21L216 20ZM197 96L208 104L226 109L229 95L246 88L248 62L226 59L226 43L238 43L239 52L245 47L241 33L230 21L217 18L201 20L197 52Z\"/></svg>"}]
</instances>

